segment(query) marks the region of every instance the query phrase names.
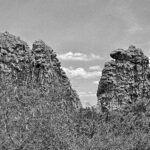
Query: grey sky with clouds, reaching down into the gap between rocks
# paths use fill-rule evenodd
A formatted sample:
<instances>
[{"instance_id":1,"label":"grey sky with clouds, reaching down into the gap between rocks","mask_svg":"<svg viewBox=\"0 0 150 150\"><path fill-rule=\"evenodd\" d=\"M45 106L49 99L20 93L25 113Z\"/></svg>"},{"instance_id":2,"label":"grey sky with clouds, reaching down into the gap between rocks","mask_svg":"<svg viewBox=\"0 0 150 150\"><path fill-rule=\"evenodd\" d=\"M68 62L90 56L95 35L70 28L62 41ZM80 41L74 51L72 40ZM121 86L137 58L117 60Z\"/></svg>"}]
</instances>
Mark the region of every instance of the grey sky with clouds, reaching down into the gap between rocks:
<instances>
[{"instance_id":1,"label":"grey sky with clouds, reaching down into the gap between rocks","mask_svg":"<svg viewBox=\"0 0 150 150\"><path fill-rule=\"evenodd\" d=\"M150 0L0 0L5 31L51 46L83 106L95 105L112 50L135 45L150 56Z\"/></svg>"}]
</instances>

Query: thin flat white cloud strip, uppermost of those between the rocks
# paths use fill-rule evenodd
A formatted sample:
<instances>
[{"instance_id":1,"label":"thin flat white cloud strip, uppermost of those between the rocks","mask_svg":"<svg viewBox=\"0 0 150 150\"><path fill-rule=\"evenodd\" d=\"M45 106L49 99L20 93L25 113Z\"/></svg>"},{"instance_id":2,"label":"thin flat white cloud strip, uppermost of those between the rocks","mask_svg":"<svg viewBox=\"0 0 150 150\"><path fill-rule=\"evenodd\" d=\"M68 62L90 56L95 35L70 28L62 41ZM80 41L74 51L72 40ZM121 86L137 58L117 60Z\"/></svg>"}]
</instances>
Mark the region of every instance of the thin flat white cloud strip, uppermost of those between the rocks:
<instances>
[{"instance_id":1,"label":"thin flat white cloud strip, uppermost of those between the rocks","mask_svg":"<svg viewBox=\"0 0 150 150\"><path fill-rule=\"evenodd\" d=\"M93 53L87 55L84 53L73 53L73 52L67 52L64 54L59 54L58 58L61 60L71 60L71 61L92 61L92 60L98 60L101 59L100 56L95 55Z\"/></svg>"}]
</instances>

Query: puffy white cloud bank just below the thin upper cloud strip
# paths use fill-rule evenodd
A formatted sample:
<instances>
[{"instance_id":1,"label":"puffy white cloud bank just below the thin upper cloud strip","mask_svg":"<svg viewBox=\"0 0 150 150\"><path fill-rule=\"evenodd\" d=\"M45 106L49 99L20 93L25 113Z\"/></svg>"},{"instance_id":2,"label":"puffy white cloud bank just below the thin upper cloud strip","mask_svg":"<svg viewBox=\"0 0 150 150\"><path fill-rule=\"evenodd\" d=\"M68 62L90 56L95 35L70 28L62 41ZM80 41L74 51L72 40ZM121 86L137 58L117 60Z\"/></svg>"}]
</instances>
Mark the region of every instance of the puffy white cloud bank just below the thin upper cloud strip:
<instances>
[{"instance_id":1,"label":"puffy white cloud bank just below the thin upper cloud strip","mask_svg":"<svg viewBox=\"0 0 150 150\"><path fill-rule=\"evenodd\" d=\"M73 68L73 67L63 67L63 70L70 78L80 77L84 79L95 78L101 75L101 72L98 71L86 71L84 68Z\"/></svg>"}]
</instances>

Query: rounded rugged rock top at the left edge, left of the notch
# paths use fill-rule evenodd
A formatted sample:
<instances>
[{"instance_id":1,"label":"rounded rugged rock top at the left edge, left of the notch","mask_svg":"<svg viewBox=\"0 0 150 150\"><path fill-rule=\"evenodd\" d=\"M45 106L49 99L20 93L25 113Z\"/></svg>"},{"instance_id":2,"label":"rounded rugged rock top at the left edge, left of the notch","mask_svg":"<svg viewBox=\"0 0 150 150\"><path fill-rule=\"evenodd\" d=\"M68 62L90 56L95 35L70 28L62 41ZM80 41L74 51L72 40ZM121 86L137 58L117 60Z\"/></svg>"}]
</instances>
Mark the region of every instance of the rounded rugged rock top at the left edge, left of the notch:
<instances>
[{"instance_id":1,"label":"rounded rugged rock top at the left edge, left of the notch","mask_svg":"<svg viewBox=\"0 0 150 150\"><path fill-rule=\"evenodd\" d=\"M0 62L1 71L9 72L13 69L21 71L22 63L27 62L29 47L27 43L8 32L0 34Z\"/></svg>"}]
</instances>

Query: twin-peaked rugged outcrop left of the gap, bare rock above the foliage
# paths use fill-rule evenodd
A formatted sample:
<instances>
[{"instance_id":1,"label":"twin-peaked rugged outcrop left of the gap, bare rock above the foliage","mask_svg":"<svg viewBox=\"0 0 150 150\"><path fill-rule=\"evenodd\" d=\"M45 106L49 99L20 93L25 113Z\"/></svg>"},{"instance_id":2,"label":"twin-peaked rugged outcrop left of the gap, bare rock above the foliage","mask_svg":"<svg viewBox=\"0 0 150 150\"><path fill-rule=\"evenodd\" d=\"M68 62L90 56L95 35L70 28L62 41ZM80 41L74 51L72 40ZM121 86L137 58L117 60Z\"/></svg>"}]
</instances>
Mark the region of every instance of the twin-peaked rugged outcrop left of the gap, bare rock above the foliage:
<instances>
[{"instance_id":1,"label":"twin-peaked rugged outcrop left of the gap, bare rock above the foliage","mask_svg":"<svg viewBox=\"0 0 150 150\"><path fill-rule=\"evenodd\" d=\"M81 107L56 53L43 41L35 41L30 49L19 37L0 33L0 77L1 83L5 78L14 89L21 86L38 89L44 96L59 95L68 107L76 110Z\"/></svg>"}]
</instances>

